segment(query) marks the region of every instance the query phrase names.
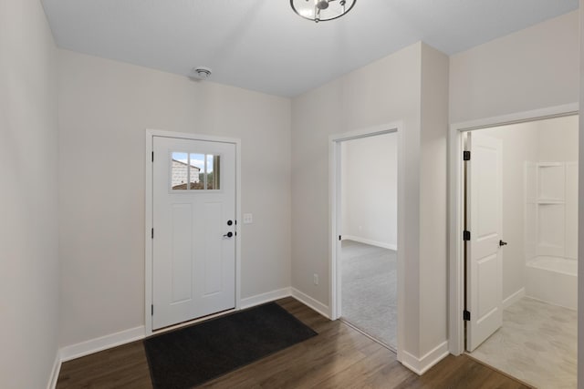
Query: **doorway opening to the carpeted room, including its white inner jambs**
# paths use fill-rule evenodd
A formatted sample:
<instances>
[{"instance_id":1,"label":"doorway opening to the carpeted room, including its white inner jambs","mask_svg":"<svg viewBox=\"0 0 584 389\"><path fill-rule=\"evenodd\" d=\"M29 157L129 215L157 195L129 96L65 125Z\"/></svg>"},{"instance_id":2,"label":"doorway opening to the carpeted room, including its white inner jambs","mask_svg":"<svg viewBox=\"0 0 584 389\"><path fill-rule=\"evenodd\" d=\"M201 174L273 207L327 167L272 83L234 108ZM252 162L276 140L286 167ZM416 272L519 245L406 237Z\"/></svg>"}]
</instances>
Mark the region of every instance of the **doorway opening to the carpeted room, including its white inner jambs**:
<instances>
[{"instance_id":1,"label":"doorway opening to the carpeted room, including its white inner jambs","mask_svg":"<svg viewBox=\"0 0 584 389\"><path fill-rule=\"evenodd\" d=\"M331 316L400 359L401 132L386 128L331 138Z\"/></svg>"}]
</instances>

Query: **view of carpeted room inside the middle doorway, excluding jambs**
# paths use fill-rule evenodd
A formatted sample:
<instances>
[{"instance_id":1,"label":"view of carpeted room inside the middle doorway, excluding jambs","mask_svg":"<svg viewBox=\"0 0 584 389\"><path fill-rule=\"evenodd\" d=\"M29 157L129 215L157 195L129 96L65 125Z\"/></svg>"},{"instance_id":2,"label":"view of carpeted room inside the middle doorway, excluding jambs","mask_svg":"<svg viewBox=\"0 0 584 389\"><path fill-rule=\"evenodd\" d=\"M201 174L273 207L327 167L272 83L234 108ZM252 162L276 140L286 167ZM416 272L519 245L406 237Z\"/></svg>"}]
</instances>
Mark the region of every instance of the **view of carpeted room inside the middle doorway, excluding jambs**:
<instances>
[{"instance_id":1,"label":"view of carpeted room inside the middle doorway, excluding jambs","mask_svg":"<svg viewBox=\"0 0 584 389\"><path fill-rule=\"evenodd\" d=\"M340 145L340 317L397 345L397 136Z\"/></svg>"}]
</instances>

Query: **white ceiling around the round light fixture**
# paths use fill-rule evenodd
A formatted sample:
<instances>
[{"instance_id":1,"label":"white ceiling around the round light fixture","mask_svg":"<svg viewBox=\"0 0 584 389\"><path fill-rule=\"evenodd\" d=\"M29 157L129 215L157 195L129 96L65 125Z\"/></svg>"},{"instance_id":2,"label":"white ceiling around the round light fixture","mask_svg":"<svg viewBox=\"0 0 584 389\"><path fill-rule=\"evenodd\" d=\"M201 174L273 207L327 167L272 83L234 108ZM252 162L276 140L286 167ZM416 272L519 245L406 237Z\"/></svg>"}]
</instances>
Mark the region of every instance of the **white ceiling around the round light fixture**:
<instances>
[{"instance_id":1,"label":"white ceiling around the round light fixture","mask_svg":"<svg viewBox=\"0 0 584 389\"><path fill-rule=\"evenodd\" d=\"M578 8L578 0L357 0L314 23L288 0L42 0L57 45L294 97L422 40L448 55Z\"/></svg>"}]
</instances>

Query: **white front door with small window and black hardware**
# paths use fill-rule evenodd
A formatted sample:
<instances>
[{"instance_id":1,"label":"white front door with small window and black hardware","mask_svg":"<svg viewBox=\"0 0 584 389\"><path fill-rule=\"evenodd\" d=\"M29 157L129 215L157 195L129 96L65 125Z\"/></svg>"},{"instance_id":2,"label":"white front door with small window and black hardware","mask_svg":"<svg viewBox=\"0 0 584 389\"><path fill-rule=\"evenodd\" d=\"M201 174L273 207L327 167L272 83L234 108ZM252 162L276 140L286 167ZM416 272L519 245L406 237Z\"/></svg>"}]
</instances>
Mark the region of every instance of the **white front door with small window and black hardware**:
<instances>
[{"instance_id":1,"label":"white front door with small window and black hardware","mask_svg":"<svg viewBox=\"0 0 584 389\"><path fill-rule=\"evenodd\" d=\"M152 329L235 308L235 144L153 137Z\"/></svg>"}]
</instances>

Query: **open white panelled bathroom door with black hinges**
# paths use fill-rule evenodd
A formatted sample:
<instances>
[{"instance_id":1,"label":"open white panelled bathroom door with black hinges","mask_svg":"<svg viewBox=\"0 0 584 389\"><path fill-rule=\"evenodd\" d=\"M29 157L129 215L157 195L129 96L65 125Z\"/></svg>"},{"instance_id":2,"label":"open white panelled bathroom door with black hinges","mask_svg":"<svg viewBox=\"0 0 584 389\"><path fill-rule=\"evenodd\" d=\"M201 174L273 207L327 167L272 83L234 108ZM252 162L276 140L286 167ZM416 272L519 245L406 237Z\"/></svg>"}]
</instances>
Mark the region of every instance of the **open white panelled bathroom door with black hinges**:
<instances>
[{"instance_id":1,"label":"open white panelled bathroom door with black hinges","mask_svg":"<svg viewBox=\"0 0 584 389\"><path fill-rule=\"evenodd\" d=\"M466 349L473 351L503 324L502 144L477 132L467 134Z\"/></svg>"}]
</instances>

